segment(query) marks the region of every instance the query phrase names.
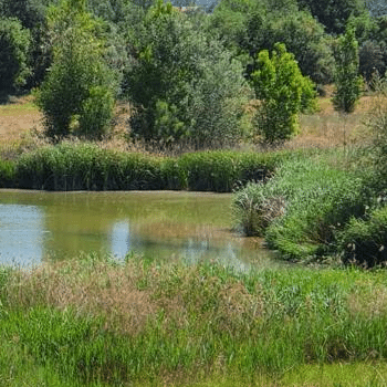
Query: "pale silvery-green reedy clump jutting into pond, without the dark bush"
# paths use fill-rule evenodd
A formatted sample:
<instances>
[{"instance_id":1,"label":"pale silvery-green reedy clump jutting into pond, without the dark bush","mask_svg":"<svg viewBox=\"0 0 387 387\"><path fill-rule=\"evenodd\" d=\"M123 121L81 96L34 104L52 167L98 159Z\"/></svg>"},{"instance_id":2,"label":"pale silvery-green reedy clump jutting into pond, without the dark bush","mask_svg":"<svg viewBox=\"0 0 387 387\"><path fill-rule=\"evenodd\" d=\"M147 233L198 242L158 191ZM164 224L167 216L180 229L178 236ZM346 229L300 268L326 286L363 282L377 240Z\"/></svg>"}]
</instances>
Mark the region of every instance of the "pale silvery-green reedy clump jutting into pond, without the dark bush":
<instances>
[{"instance_id":1,"label":"pale silvery-green reedy clump jutting into pond, without the dark bush","mask_svg":"<svg viewBox=\"0 0 387 387\"><path fill-rule=\"evenodd\" d=\"M334 251L336 230L364 216L370 200L362 177L315 155L284 161L266 185L238 192L234 207L242 229L299 260Z\"/></svg>"}]
</instances>

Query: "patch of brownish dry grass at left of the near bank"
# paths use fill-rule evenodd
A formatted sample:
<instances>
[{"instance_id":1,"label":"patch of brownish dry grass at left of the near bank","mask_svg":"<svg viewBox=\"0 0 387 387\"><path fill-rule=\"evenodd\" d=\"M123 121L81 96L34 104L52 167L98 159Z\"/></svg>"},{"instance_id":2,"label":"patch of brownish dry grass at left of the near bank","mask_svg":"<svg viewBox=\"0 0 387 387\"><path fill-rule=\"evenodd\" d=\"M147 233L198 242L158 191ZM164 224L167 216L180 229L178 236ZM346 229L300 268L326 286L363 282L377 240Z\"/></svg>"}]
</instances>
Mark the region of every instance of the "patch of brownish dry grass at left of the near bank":
<instances>
[{"instance_id":1,"label":"patch of brownish dry grass at left of the near bank","mask_svg":"<svg viewBox=\"0 0 387 387\"><path fill-rule=\"evenodd\" d=\"M50 305L62 311L73 307L80 315L103 316L106 328L137 333L158 308L149 291L138 290L142 275L133 265L85 265L82 260L46 263L18 272L7 294L11 305Z\"/></svg>"}]
</instances>

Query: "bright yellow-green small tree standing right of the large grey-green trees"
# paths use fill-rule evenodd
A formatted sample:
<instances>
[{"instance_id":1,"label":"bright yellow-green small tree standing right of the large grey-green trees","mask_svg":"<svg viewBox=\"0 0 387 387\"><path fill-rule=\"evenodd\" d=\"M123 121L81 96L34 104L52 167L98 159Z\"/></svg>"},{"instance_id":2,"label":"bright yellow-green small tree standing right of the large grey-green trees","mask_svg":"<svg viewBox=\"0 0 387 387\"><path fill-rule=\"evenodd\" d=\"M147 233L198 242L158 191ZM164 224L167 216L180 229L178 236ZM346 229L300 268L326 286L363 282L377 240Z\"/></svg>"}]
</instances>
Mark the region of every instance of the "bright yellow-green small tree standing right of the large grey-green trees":
<instances>
[{"instance_id":1,"label":"bright yellow-green small tree standing right of the large grey-green trees","mask_svg":"<svg viewBox=\"0 0 387 387\"><path fill-rule=\"evenodd\" d=\"M297 133L299 114L313 106L313 83L301 74L284 44L276 44L271 57L266 50L260 52L257 69L251 80L261 102L258 133L269 144L286 140Z\"/></svg>"}]
</instances>

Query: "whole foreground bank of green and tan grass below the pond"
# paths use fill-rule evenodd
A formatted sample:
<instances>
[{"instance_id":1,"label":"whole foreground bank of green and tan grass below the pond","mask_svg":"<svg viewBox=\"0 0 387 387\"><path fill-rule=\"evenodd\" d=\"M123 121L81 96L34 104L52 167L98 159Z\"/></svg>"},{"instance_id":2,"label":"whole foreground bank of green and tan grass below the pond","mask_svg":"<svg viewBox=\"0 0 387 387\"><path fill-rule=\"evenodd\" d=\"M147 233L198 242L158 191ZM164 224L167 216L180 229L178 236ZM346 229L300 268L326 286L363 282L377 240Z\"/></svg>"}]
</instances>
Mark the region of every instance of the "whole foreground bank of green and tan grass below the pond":
<instances>
[{"instance_id":1,"label":"whole foreground bank of green and tan grass below the pond","mask_svg":"<svg viewBox=\"0 0 387 387\"><path fill-rule=\"evenodd\" d=\"M88 257L0 283L0 386L385 385L383 271Z\"/></svg>"}]
</instances>

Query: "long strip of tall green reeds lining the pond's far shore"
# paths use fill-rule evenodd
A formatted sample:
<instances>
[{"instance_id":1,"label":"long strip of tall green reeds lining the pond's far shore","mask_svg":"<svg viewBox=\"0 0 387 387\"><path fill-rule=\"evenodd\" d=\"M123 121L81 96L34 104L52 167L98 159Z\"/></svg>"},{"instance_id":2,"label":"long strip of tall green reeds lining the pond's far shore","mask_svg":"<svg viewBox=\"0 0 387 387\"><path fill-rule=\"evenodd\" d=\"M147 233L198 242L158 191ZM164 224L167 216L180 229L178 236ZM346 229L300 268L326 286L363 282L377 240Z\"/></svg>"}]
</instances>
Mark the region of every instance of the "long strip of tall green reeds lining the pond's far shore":
<instances>
[{"instance_id":1,"label":"long strip of tall green reeds lining the pond's far shore","mask_svg":"<svg viewBox=\"0 0 387 387\"><path fill-rule=\"evenodd\" d=\"M43 146L0 163L0 186L45 190L188 189L230 192L263 180L291 151L213 150L160 157L90 143Z\"/></svg>"}]
</instances>

